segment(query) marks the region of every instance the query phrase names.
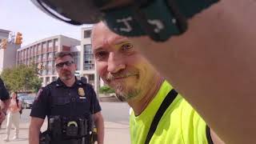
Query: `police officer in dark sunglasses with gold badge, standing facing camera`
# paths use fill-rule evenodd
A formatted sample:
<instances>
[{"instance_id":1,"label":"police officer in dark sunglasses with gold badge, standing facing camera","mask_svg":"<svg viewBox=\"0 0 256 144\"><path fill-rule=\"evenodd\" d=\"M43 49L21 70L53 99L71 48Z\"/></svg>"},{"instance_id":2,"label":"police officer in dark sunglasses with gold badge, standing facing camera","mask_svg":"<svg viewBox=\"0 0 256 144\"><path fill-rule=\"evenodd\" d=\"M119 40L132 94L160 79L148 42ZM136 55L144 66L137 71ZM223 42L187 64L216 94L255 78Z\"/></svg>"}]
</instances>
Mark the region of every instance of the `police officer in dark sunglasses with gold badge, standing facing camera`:
<instances>
[{"instance_id":1,"label":"police officer in dark sunglasses with gold badge, standing facing camera","mask_svg":"<svg viewBox=\"0 0 256 144\"><path fill-rule=\"evenodd\" d=\"M55 63L58 80L38 91L31 110L30 144L39 143L40 128L46 116L48 128L40 140L50 140L51 144L89 144L94 122L98 143L102 144L104 124L93 87L74 76L77 66L70 52L57 53Z\"/></svg>"}]
</instances>

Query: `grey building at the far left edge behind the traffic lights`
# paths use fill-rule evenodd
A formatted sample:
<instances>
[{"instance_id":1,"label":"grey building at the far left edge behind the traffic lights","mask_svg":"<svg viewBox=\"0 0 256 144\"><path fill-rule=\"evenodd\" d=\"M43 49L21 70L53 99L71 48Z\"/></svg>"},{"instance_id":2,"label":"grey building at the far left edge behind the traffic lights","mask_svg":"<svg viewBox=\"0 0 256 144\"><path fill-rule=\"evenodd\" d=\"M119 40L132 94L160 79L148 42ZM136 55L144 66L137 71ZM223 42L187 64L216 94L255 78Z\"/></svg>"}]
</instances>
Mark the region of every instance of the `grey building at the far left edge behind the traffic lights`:
<instances>
[{"instance_id":1,"label":"grey building at the far left edge behind the traffic lights","mask_svg":"<svg viewBox=\"0 0 256 144\"><path fill-rule=\"evenodd\" d=\"M9 30L0 29L0 42L2 42L2 39L8 39L9 34ZM9 42L6 49L0 48L0 74L2 73L2 70L16 65L16 51L20 47L20 45Z\"/></svg>"}]
</instances>

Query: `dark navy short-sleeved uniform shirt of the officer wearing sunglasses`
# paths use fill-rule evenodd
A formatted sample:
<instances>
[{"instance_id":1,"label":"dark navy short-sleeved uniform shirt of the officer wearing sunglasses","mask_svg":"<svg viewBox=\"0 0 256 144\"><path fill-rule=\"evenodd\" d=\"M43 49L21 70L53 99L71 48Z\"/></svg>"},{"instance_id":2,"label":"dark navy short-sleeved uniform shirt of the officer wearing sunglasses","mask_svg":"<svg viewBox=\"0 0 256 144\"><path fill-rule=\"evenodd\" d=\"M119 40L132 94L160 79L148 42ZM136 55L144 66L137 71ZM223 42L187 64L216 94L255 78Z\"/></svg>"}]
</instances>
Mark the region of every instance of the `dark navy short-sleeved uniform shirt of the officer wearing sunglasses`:
<instances>
[{"instance_id":1,"label":"dark navy short-sleeved uniform shirt of the officer wearing sunglasses","mask_svg":"<svg viewBox=\"0 0 256 144\"><path fill-rule=\"evenodd\" d=\"M81 116L102 110L94 89L81 81L66 86L60 78L38 91L30 113L31 117L46 118L46 115Z\"/></svg>"}]
</instances>

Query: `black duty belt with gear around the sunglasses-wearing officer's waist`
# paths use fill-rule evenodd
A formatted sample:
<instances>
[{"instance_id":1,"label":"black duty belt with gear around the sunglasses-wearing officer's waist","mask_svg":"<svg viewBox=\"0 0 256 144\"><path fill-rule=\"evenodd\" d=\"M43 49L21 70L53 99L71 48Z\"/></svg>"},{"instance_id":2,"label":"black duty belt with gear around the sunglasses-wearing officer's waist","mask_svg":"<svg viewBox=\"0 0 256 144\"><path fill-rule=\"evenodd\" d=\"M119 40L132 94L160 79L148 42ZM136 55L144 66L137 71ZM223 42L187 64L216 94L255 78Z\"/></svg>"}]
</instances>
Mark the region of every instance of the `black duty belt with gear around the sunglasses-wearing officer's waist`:
<instances>
[{"instance_id":1,"label":"black duty belt with gear around the sunglasses-wearing officer's waist","mask_svg":"<svg viewBox=\"0 0 256 144\"><path fill-rule=\"evenodd\" d=\"M51 143L93 144L97 141L97 130L92 130L90 118L66 118L51 116L48 129L42 138L49 137ZM48 143L40 143L48 144Z\"/></svg>"}]
</instances>

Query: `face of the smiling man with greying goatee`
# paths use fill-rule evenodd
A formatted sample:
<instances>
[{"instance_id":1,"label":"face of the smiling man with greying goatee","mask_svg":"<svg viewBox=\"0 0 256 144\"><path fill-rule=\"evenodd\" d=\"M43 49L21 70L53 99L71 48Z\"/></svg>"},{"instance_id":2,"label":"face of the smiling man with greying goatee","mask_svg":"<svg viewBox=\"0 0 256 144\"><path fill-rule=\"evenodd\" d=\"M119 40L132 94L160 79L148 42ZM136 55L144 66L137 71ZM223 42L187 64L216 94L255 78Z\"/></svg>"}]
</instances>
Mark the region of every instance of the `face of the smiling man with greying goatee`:
<instances>
[{"instance_id":1,"label":"face of the smiling man with greying goatee","mask_svg":"<svg viewBox=\"0 0 256 144\"><path fill-rule=\"evenodd\" d=\"M98 74L118 95L130 100L150 89L156 71L128 38L98 24L93 29L92 47Z\"/></svg>"}]
</instances>

